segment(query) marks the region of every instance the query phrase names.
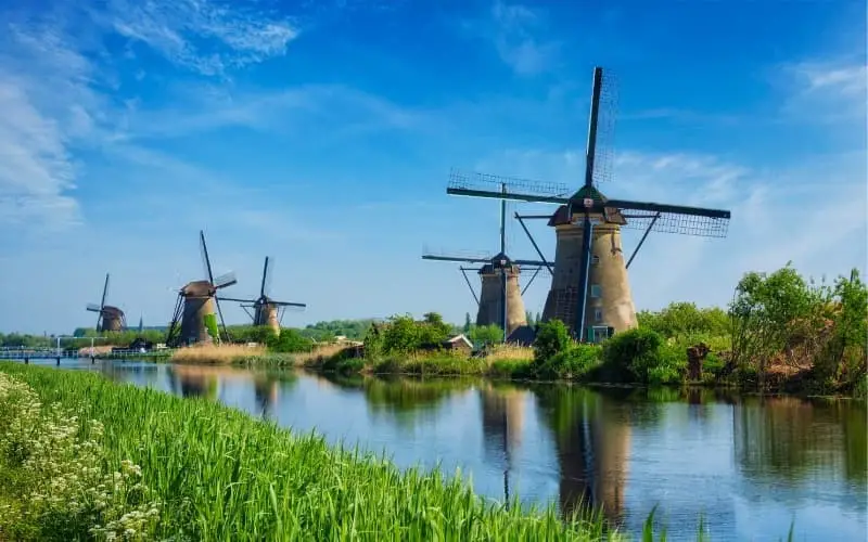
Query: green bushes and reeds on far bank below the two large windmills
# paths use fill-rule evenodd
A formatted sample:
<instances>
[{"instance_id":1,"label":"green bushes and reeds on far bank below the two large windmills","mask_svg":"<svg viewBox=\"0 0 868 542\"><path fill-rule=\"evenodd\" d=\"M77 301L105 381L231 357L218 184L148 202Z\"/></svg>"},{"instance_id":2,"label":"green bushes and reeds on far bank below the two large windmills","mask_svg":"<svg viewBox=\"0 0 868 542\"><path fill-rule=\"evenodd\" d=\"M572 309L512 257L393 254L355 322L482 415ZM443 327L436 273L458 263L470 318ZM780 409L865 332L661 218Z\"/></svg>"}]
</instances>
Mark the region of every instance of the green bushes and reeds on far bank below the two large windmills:
<instances>
[{"instance_id":1,"label":"green bushes and reeds on far bank below the two large windmills","mask_svg":"<svg viewBox=\"0 0 868 542\"><path fill-rule=\"evenodd\" d=\"M342 373L476 374L641 385L866 396L868 287L854 270L834 283L806 281L787 266L748 273L720 308L674 302L640 311L639 326L601 345L571 339L557 320L536 326L533 348L490 346L469 357L444 347L452 332L436 313L372 325L363 350L314 350L302 364Z\"/></svg>"}]
</instances>

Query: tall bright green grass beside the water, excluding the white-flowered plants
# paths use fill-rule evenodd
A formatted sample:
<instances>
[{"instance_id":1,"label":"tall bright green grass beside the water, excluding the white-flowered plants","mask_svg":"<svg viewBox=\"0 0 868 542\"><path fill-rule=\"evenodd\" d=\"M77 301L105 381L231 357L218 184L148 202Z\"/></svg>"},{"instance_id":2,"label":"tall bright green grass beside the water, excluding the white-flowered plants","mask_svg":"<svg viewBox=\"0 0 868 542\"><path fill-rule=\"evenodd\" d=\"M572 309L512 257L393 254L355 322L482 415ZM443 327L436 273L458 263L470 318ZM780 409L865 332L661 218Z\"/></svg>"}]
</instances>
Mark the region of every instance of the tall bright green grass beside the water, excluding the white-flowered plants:
<instances>
[{"instance_id":1,"label":"tall bright green grass beside the water, excluding the white-flowered plants","mask_svg":"<svg viewBox=\"0 0 868 542\"><path fill-rule=\"evenodd\" d=\"M333 449L202 399L0 363L43 403L104 425L105 461L141 466L173 540L621 540L601 520L485 503L437 470Z\"/></svg>"}]
</instances>

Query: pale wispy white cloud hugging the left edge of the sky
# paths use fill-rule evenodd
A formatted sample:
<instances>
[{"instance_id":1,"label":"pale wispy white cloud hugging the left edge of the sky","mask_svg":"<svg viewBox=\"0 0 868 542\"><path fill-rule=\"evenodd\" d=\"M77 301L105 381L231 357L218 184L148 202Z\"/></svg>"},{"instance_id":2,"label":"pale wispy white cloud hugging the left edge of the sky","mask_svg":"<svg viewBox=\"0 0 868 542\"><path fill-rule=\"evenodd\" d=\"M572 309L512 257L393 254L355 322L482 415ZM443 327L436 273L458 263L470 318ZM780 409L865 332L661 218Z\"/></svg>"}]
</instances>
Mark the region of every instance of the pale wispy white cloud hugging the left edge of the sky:
<instances>
[{"instance_id":1,"label":"pale wispy white cloud hugging the left edge of the sky","mask_svg":"<svg viewBox=\"0 0 868 542\"><path fill-rule=\"evenodd\" d=\"M69 145L92 129L91 66L49 29L9 30L0 39L0 222L68 227L80 219Z\"/></svg>"}]
</instances>

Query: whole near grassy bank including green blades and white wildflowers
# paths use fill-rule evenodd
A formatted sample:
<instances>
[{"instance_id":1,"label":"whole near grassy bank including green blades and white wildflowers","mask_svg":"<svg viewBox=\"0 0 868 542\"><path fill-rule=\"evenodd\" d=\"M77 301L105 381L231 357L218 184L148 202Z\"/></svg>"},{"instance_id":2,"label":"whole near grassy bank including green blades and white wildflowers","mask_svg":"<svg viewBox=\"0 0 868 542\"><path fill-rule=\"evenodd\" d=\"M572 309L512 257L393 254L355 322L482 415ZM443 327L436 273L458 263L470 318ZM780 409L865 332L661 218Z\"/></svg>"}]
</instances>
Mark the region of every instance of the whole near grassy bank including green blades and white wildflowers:
<instances>
[{"instance_id":1,"label":"whole near grassy bank including green blades and white wildflowers","mask_svg":"<svg viewBox=\"0 0 868 542\"><path fill-rule=\"evenodd\" d=\"M401 474L213 402L12 363L0 363L0 540L599 540L603 531L600 521L565 524L552 508L485 504L436 472Z\"/></svg>"}]
</instances>

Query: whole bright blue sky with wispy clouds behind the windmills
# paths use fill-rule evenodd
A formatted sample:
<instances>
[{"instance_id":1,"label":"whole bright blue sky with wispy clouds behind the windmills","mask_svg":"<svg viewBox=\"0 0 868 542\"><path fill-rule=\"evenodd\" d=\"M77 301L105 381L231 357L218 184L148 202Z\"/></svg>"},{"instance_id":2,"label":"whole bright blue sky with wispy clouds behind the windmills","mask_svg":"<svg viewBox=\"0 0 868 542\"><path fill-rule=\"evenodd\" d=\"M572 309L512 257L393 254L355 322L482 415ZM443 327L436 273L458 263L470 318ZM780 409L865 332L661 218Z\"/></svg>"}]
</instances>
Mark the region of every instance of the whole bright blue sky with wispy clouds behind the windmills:
<instances>
[{"instance_id":1,"label":"whole bright blue sky with wispy clouds behind the windmills","mask_svg":"<svg viewBox=\"0 0 868 542\"><path fill-rule=\"evenodd\" d=\"M200 229L227 295L275 258L272 297L308 304L284 325L462 321L457 266L420 257L496 251L499 210L447 196L449 168L578 186L595 65L618 90L603 192L732 211L725 240L649 236L637 308L723 305L788 260L865 271L864 2L436 4L4 2L0 330L92 325L105 272L130 322L164 324Z\"/></svg>"}]
</instances>

